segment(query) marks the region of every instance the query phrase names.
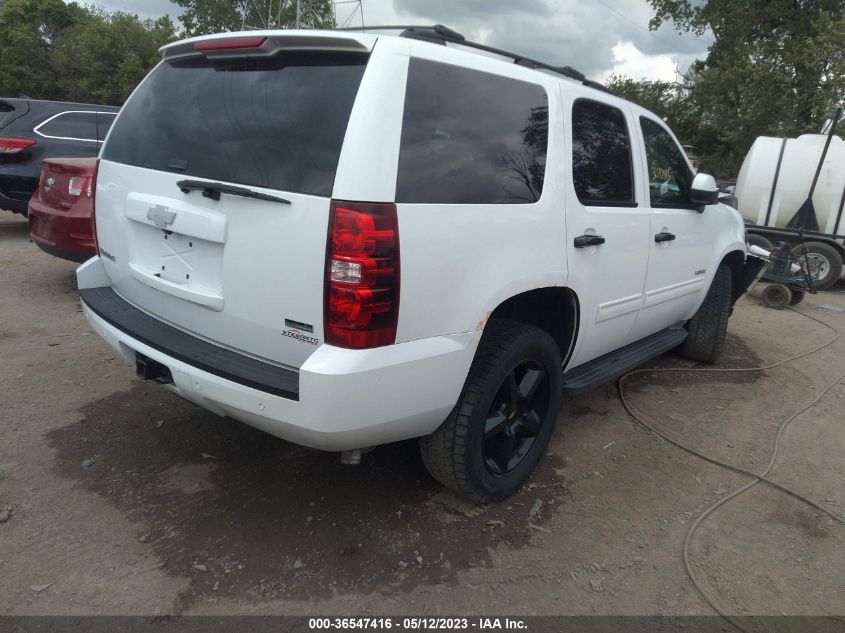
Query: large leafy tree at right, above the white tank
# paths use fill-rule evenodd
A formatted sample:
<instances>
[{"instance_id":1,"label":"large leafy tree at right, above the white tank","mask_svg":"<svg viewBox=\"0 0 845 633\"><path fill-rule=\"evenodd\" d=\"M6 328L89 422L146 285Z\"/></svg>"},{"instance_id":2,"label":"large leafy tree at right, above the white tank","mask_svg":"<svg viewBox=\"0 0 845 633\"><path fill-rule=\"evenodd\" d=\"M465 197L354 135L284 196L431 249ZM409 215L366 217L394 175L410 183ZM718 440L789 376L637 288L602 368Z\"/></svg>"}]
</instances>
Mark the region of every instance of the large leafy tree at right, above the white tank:
<instances>
[{"instance_id":1,"label":"large leafy tree at right, above the white tank","mask_svg":"<svg viewBox=\"0 0 845 633\"><path fill-rule=\"evenodd\" d=\"M703 163L736 175L754 139L818 131L845 97L842 0L648 0L651 27L709 33L685 78Z\"/></svg>"}]
</instances>

